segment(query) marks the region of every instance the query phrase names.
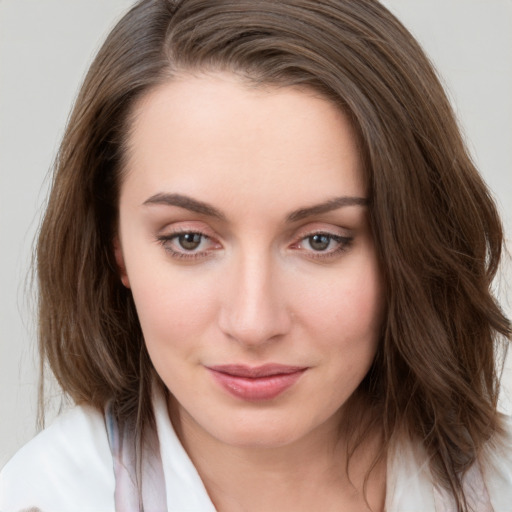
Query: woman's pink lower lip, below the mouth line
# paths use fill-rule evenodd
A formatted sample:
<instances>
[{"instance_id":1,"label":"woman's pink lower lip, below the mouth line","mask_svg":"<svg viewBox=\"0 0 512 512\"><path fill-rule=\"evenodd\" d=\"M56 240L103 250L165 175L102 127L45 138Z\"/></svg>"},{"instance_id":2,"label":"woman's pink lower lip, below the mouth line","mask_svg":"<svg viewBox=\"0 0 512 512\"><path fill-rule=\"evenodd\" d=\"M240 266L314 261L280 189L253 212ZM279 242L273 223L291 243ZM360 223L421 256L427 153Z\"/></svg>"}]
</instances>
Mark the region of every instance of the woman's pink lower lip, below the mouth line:
<instances>
[{"instance_id":1,"label":"woman's pink lower lip, below the mouth line","mask_svg":"<svg viewBox=\"0 0 512 512\"><path fill-rule=\"evenodd\" d=\"M231 395L251 402L272 400L293 386L305 372L269 375L268 377L237 377L210 370L215 380Z\"/></svg>"}]
</instances>

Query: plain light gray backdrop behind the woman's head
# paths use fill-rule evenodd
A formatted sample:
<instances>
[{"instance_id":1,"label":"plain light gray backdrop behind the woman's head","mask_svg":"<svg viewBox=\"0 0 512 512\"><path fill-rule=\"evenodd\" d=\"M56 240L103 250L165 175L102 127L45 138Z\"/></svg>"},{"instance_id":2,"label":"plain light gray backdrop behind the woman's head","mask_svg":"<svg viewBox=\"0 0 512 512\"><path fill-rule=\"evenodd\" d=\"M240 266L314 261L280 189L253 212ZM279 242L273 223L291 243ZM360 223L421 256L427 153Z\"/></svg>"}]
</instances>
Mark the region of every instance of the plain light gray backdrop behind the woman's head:
<instances>
[{"instance_id":1,"label":"plain light gray backdrop behind the woman's head","mask_svg":"<svg viewBox=\"0 0 512 512\"><path fill-rule=\"evenodd\" d=\"M501 208L510 250L512 0L383 3L439 70ZM36 326L27 284L48 170L87 65L131 4L0 0L0 467L35 432ZM510 276L506 271L499 283L509 316ZM511 374L507 369L503 379L501 407L507 412Z\"/></svg>"}]
</instances>

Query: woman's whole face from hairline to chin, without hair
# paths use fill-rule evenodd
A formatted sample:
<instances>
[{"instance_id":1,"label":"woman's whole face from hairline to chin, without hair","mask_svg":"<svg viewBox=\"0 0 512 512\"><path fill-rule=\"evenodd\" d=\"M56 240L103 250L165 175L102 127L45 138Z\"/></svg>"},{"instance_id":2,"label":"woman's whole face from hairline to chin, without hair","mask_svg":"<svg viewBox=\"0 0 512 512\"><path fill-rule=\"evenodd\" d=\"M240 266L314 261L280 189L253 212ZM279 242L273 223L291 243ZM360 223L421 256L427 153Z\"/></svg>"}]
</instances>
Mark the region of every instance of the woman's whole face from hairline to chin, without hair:
<instances>
[{"instance_id":1,"label":"woman's whole face from hairline to chin, without hair","mask_svg":"<svg viewBox=\"0 0 512 512\"><path fill-rule=\"evenodd\" d=\"M134 119L116 256L182 429L280 446L335 428L383 310L347 119L230 74L176 78Z\"/></svg>"}]
</instances>

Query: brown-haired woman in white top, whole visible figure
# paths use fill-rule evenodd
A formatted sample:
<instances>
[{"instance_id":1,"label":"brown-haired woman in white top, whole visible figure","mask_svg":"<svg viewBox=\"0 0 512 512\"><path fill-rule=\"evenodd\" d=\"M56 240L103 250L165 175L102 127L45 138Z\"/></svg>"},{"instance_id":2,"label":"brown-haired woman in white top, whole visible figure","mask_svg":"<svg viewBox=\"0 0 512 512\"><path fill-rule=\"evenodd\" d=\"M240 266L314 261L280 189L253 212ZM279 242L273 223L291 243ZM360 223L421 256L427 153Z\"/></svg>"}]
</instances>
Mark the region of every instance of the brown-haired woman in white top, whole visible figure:
<instances>
[{"instance_id":1,"label":"brown-haired woman in white top, whole visible figure","mask_svg":"<svg viewBox=\"0 0 512 512\"><path fill-rule=\"evenodd\" d=\"M507 510L501 247L380 4L138 2L39 236L41 353L78 405L1 508Z\"/></svg>"}]
</instances>

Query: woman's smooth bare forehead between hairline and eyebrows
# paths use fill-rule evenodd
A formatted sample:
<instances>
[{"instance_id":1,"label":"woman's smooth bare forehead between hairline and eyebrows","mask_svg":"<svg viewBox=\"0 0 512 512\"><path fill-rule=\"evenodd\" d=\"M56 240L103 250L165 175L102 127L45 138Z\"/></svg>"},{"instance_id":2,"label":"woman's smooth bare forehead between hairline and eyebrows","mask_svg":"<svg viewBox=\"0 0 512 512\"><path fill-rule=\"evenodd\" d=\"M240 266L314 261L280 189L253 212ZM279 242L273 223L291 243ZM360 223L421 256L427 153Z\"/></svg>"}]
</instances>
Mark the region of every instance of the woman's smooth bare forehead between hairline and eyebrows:
<instances>
[{"instance_id":1,"label":"woman's smooth bare forehead between hairline and eyebrows","mask_svg":"<svg viewBox=\"0 0 512 512\"><path fill-rule=\"evenodd\" d=\"M302 203L365 194L350 123L313 91L184 75L150 91L132 119L122 191Z\"/></svg>"}]
</instances>

